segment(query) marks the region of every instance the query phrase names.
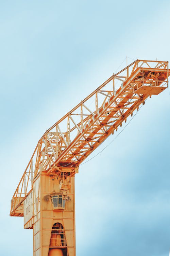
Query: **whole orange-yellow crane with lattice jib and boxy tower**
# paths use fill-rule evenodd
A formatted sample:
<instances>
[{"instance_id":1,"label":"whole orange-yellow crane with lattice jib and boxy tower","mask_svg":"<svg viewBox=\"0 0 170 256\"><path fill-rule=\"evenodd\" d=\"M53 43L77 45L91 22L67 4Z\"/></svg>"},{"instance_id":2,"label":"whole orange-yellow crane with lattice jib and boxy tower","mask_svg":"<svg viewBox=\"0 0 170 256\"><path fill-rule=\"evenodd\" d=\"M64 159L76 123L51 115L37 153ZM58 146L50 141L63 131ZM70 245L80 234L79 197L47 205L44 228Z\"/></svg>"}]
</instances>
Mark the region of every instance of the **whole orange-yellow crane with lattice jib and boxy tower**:
<instances>
[{"instance_id":1,"label":"whole orange-yellow crane with lattice jib and boxy tower","mask_svg":"<svg viewBox=\"0 0 170 256\"><path fill-rule=\"evenodd\" d=\"M151 95L168 87L168 61L136 60L48 129L11 200L33 229L34 256L75 256L74 176L79 165Z\"/></svg>"}]
</instances>

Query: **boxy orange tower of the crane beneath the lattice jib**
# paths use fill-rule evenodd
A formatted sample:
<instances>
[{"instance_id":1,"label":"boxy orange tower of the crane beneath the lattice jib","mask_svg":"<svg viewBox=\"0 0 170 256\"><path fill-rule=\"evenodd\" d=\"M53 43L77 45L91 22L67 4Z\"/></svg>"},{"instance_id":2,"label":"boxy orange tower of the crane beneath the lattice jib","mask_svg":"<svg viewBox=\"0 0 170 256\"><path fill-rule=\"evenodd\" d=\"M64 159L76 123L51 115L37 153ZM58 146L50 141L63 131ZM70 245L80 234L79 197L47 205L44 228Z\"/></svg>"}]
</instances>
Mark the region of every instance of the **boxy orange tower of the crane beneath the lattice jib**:
<instances>
[{"instance_id":1,"label":"boxy orange tower of the crane beneath the lattice jib","mask_svg":"<svg viewBox=\"0 0 170 256\"><path fill-rule=\"evenodd\" d=\"M60 175L55 172L50 175L41 172L37 182L34 183L34 256L75 256L74 176L71 176L71 172L63 172ZM36 204L38 194L38 204ZM55 207L53 196L58 198L60 196L60 200L68 199L65 200L64 209ZM52 238L54 241L52 227L56 223L63 226L63 231L60 235L61 231L56 229L56 243L52 243L50 242ZM62 236L65 238L65 243L58 243L58 237L63 239Z\"/></svg>"}]
</instances>

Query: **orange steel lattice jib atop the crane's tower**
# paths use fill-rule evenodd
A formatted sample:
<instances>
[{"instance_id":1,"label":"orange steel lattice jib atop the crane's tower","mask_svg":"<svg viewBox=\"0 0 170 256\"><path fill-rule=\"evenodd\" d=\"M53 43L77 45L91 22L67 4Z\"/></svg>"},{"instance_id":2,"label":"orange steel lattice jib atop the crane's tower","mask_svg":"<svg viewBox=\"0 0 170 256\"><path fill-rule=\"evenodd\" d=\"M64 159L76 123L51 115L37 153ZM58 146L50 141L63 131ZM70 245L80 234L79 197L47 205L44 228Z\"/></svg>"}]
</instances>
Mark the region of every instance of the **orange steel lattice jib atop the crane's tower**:
<instances>
[{"instance_id":1,"label":"orange steel lattice jib atop the crane's tower","mask_svg":"<svg viewBox=\"0 0 170 256\"><path fill-rule=\"evenodd\" d=\"M168 62L136 60L113 74L48 129L38 141L14 193L11 215L21 207L39 172L78 168L140 104L167 88L169 74Z\"/></svg>"}]
</instances>

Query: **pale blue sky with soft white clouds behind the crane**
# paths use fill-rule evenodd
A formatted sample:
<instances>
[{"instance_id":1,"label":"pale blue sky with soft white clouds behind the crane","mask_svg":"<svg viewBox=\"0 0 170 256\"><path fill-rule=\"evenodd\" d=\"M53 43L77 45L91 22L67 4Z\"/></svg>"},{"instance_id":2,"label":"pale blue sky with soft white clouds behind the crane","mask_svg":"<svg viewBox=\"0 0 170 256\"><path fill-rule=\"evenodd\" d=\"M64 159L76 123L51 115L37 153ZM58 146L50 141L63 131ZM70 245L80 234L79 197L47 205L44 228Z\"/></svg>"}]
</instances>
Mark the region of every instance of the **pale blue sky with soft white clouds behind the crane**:
<instances>
[{"instance_id":1,"label":"pale blue sky with soft white clouds behind the crane","mask_svg":"<svg viewBox=\"0 0 170 256\"><path fill-rule=\"evenodd\" d=\"M1 255L33 254L32 230L9 212L39 138L126 56L170 60L169 12L164 0L0 2ZM167 89L80 167L78 256L169 255L169 113Z\"/></svg>"}]
</instances>

